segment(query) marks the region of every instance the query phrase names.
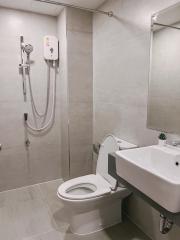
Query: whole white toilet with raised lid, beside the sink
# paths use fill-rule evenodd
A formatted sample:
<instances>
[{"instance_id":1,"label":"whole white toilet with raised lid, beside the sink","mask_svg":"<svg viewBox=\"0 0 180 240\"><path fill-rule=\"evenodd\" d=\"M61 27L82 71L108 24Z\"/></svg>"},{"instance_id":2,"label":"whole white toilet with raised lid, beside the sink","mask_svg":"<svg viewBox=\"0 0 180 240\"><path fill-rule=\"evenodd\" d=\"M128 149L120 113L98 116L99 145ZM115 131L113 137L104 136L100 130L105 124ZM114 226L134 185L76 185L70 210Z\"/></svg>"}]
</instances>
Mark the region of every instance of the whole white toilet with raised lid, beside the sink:
<instances>
[{"instance_id":1,"label":"whole white toilet with raised lid, beside the sink","mask_svg":"<svg viewBox=\"0 0 180 240\"><path fill-rule=\"evenodd\" d=\"M71 232L87 235L122 221L122 200L130 192L118 186L108 174L108 154L135 147L108 135L100 147L96 174L77 177L60 185L57 195L69 215Z\"/></svg>"}]
</instances>

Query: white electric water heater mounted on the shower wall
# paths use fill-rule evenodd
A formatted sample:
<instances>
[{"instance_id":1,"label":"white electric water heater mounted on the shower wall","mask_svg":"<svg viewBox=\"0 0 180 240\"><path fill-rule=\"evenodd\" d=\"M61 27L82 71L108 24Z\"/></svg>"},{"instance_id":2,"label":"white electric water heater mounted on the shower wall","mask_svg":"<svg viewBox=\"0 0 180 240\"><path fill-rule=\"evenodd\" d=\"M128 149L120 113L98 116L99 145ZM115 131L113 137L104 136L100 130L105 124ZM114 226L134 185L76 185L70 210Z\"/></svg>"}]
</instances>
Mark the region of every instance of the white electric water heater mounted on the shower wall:
<instances>
[{"instance_id":1,"label":"white electric water heater mounted on the shower wall","mask_svg":"<svg viewBox=\"0 0 180 240\"><path fill-rule=\"evenodd\" d=\"M55 36L44 37L44 58L46 60L58 60L59 46L58 39Z\"/></svg>"}]
</instances>

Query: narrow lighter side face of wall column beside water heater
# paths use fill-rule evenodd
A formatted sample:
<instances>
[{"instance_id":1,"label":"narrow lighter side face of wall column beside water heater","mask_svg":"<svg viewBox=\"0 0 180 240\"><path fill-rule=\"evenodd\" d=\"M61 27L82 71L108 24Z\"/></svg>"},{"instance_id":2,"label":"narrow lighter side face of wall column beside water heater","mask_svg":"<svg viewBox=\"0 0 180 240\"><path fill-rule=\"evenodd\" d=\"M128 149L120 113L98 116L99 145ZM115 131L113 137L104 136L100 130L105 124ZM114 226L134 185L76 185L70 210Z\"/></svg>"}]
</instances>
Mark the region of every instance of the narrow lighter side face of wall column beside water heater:
<instances>
[{"instance_id":1,"label":"narrow lighter side face of wall column beside water heater","mask_svg":"<svg viewBox=\"0 0 180 240\"><path fill-rule=\"evenodd\" d=\"M57 19L60 51L60 108L61 108L61 161L62 177L69 178L69 113L68 113L68 72L67 72L67 17L64 9Z\"/></svg>"}]
</instances>

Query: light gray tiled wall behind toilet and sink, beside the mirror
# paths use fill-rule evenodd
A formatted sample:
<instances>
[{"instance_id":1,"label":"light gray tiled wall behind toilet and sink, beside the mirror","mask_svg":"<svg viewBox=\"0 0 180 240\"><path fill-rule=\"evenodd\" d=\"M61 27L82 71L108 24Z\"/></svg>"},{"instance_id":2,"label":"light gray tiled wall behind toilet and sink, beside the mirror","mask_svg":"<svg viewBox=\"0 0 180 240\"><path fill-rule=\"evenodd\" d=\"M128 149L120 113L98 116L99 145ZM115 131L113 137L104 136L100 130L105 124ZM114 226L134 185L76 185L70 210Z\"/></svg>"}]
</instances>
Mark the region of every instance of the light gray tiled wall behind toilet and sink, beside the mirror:
<instances>
[{"instance_id":1,"label":"light gray tiled wall behind toilet and sink, beside the mirror","mask_svg":"<svg viewBox=\"0 0 180 240\"><path fill-rule=\"evenodd\" d=\"M175 0L109 0L108 18L94 15L94 141L108 133L139 146L157 143L158 132L146 127L151 14ZM169 139L177 136L168 135ZM180 228L159 233L159 213L130 197L126 212L153 240L178 240Z\"/></svg>"}]
</instances>

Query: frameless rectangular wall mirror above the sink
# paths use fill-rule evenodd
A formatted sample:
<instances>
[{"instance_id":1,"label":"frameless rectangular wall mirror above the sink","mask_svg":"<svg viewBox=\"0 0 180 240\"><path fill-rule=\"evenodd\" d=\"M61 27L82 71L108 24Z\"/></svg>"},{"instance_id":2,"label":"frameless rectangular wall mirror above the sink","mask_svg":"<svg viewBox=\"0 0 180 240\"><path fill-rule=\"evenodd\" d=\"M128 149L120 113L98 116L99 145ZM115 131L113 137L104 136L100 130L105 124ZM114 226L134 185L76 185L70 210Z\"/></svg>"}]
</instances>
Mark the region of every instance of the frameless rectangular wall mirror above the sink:
<instances>
[{"instance_id":1,"label":"frameless rectangular wall mirror above the sink","mask_svg":"<svg viewBox=\"0 0 180 240\"><path fill-rule=\"evenodd\" d=\"M180 133L180 3L152 16L148 128Z\"/></svg>"}]
</instances>

